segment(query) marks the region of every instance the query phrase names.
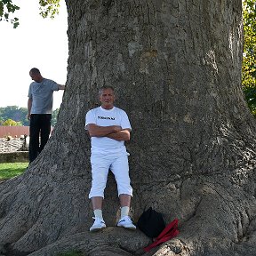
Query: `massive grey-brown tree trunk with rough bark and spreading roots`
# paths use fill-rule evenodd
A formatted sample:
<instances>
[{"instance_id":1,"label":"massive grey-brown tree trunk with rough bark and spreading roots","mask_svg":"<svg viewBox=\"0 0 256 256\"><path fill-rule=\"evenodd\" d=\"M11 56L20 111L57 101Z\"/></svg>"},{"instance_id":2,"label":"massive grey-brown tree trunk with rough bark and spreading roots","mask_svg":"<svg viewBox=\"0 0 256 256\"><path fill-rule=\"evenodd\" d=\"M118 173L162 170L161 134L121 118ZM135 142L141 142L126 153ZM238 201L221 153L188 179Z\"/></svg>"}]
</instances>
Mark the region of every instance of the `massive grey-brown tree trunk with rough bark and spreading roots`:
<instances>
[{"instance_id":1,"label":"massive grey-brown tree trunk with rough bark and spreading roots","mask_svg":"<svg viewBox=\"0 0 256 256\"><path fill-rule=\"evenodd\" d=\"M180 220L147 255L255 255L255 121L241 90L241 0L66 0L68 82L52 138L28 171L0 185L4 255L134 255L140 230L113 228L116 182L91 234L84 115L102 85L130 116L132 217ZM32 253L33 252L33 253ZM1 253L0 253L1 254Z\"/></svg>"}]
</instances>

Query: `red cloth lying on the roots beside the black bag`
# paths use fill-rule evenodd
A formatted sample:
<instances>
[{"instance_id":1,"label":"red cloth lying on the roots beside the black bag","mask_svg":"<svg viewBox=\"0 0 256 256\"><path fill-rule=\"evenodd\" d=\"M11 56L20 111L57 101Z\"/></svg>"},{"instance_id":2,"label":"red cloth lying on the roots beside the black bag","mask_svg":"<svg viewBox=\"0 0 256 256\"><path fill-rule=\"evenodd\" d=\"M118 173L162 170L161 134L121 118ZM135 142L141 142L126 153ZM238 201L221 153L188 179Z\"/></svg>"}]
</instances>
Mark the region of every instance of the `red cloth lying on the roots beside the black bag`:
<instances>
[{"instance_id":1,"label":"red cloth lying on the roots beside the black bag","mask_svg":"<svg viewBox=\"0 0 256 256\"><path fill-rule=\"evenodd\" d=\"M170 240L172 237L178 236L179 233L180 232L178 230L178 219L175 219L164 228L164 230L160 233L159 236L156 237L156 240L154 241L153 244L150 244L144 248L144 251L149 252L152 248L156 247L157 245Z\"/></svg>"}]
</instances>

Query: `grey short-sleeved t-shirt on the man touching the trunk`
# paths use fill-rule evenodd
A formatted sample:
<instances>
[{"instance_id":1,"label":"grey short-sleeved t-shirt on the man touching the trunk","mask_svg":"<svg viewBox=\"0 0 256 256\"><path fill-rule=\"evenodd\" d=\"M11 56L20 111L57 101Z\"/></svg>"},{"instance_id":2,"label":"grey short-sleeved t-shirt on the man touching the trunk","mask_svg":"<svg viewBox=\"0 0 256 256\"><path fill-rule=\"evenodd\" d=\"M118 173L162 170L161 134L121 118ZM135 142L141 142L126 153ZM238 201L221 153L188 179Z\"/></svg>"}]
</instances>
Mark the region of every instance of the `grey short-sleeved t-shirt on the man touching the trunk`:
<instances>
[{"instance_id":1,"label":"grey short-sleeved t-shirt on the man touching the trunk","mask_svg":"<svg viewBox=\"0 0 256 256\"><path fill-rule=\"evenodd\" d=\"M31 83L28 90L28 98L32 99L31 114L52 114L53 92L58 90L59 85L50 79Z\"/></svg>"}]
</instances>

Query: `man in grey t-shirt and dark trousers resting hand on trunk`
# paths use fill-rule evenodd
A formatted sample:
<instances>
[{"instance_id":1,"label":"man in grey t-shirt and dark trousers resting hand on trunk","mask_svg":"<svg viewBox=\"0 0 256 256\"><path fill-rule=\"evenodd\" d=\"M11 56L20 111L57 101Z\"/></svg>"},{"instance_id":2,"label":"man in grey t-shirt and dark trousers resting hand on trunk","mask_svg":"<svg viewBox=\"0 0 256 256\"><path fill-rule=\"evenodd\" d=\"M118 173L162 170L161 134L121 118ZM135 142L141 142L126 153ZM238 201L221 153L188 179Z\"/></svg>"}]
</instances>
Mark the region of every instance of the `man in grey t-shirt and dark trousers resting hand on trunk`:
<instances>
[{"instance_id":1,"label":"man in grey t-shirt and dark trousers resting hand on trunk","mask_svg":"<svg viewBox=\"0 0 256 256\"><path fill-rule=\"evenodd\" d=\"M51 132L53 92L64 90L65 85L41 76L38 68L32 68L29 76L34 82L28 90L29 163L43 150ZM41 143L39 143L39 135Z\"/></svg>"}]
</instances>

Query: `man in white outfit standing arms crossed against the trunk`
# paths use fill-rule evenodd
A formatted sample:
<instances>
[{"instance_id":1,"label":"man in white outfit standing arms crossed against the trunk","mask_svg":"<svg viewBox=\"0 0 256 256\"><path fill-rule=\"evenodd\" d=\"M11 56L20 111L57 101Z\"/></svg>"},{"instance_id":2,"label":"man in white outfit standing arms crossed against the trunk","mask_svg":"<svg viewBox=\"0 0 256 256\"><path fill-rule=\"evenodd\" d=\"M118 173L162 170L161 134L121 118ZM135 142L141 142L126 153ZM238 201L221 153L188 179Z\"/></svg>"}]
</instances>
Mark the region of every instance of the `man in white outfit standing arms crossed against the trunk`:
<instances>
[{"instance_id":1,"label":"man in white outfit standing arms crossed against the trunk","mask_svg":"<svg viewBox=\"0 0 256 256\"><path fill-rule=\"evenodd\" d=\"M132 187L130 185L128 153L124 141L130 140L132 130L127 114L114 106L114 89L103 86L99 92L101 106L86 114L85 129L92 143L92 199L94 223L90 231L106 228L102 217L102 201L106 188L108 170L114 173L121 204L121 218L117 227L136 229L129 217Z\"/></svg>"}]
</instances>

